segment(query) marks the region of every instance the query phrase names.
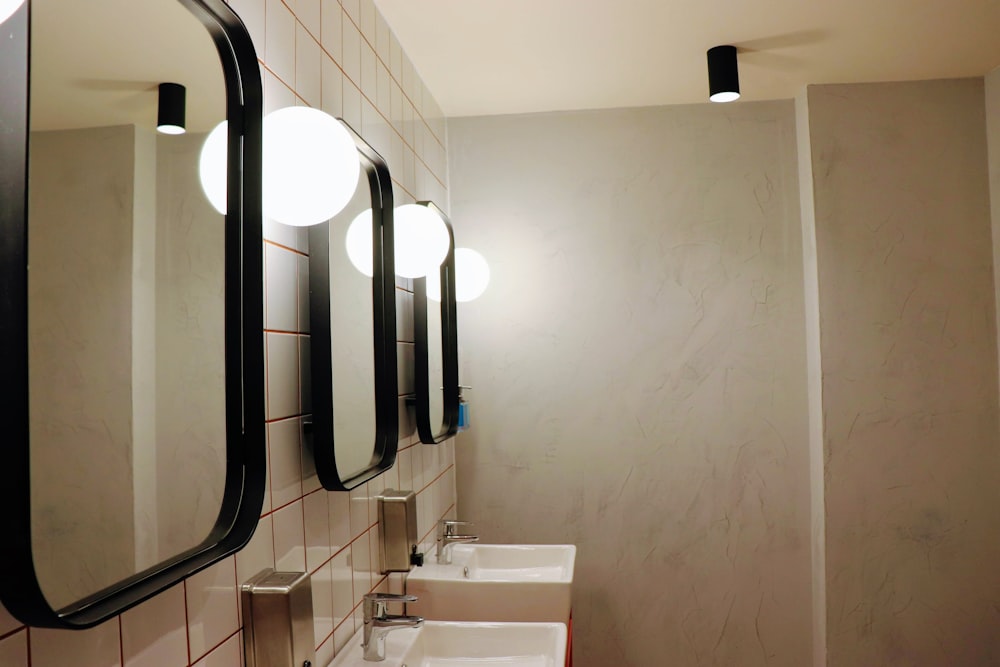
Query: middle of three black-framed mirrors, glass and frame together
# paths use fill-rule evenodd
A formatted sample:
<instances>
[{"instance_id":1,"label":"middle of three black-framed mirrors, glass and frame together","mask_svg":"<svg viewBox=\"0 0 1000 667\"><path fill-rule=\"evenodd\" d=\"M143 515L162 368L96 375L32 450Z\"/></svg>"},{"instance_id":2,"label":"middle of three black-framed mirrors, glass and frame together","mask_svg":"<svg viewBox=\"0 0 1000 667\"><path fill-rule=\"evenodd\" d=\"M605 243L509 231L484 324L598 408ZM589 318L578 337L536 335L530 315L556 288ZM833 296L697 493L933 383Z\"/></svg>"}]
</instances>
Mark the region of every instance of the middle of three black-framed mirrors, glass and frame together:
<instances>
[{"instance_id":1,"label":"middle of three black-framed mirrors, glass and frame together","mask_svg":"<svg viewBox=\"0 0 1000 667\"><path fill-rule=\"evenodd\" d=\"M309 229L308 444L330 491L353 489L391 468L399 440L392 182L382 156L347 127L367 178L343 211ZM355 220L362 231L370 221L372 259L364 270L348 255Z\"/></svg>"}]
</instances>

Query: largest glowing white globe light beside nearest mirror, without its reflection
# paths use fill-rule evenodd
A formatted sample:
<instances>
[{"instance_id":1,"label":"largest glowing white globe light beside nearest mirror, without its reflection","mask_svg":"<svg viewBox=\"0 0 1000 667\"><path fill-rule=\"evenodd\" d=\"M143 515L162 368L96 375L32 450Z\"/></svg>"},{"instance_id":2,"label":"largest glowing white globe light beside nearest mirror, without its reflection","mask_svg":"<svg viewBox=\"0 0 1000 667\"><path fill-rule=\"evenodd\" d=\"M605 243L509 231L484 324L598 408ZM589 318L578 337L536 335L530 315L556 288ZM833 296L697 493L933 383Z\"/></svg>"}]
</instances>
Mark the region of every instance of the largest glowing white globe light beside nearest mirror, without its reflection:
<instances>
[{"instance_id":1,"label":"largest glowing white globe light beside nearest mirror, without its reflection","mask_svg":"<svg viewBox=\"0 0 1000 667\"><path fill-rule=\"evenodd\" d=\"M361 163L347 128L310 107L264 117L264 214L285 225L325 222L358 187Z\"/></svg>"}]
</instances>

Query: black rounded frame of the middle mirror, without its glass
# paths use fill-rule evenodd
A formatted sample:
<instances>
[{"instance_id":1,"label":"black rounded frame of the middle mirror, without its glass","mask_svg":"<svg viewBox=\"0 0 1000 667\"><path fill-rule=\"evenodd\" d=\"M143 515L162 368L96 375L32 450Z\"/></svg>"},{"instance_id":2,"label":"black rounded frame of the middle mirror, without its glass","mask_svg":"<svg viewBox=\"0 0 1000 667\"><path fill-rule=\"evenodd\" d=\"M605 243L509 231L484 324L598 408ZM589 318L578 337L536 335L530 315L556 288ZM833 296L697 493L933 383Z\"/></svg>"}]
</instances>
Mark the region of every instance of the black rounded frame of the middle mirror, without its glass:
<instances>
[{"instance_id":1,"label":"black rounded frame of the middle mirror, without its glass","mask_svg":"<svg viewBox=\"0 0 1000 667\"><path fill-rule=\"evenodd\" d=\"M320 484L328 491L350 491L389 470L399 447L399 379L396 374L396 273L393 245L393 196L389 166L343 119L368 179L372 203L372 310L375 367L375 442L360 472L337 466L334 441L333 350L330 318L330 223L309 228L309 327L312 425L307 431Z\"/></svg>"}]
</instances>

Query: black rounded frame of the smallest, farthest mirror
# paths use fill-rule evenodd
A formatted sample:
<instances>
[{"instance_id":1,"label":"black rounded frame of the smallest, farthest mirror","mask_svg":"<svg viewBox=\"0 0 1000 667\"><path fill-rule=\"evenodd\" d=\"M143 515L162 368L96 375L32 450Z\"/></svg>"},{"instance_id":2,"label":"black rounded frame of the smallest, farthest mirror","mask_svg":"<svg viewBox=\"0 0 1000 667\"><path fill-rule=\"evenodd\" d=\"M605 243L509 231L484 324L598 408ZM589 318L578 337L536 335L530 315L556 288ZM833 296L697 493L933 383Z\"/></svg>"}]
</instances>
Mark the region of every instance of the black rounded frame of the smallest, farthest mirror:
<instances>
[{"instance_id":1,"label":"black rounded frame of the smallest, farthest mirror","mask_svg":"<svg viewBox=\"0 0 1000 667\"><path fill-rule=\"evenodd\" d=\"M444 410L440 430L431 424L430 344L427 334L427 279L413 281L413 337L415 343L415 382L417 389L417 434L425 445L438 445L458 433L458 307L455 300L455 230L451 220L434 202L420 201L431 209L448 229L448 255L441 263L441 365L444 386Z\"/></svg>"}]
</instances>

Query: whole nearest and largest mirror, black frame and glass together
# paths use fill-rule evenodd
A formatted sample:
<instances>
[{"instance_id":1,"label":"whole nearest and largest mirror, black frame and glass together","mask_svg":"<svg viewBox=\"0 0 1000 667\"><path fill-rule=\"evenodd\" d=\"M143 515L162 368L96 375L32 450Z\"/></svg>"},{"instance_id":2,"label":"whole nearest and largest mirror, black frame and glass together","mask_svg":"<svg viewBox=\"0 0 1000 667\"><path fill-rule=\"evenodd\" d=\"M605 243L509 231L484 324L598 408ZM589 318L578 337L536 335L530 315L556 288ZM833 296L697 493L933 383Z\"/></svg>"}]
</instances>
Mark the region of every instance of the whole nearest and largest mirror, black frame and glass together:
<instances>
[{"instance_id":1,"label":"whole nearest and largest mirror, black frame and glass together","mask_svg":"<svg viewBox=\"0 0 1000 667\"><path fill-rule=\"evenodd\" d=\"M81 629L260 515L260 70L222 0L27 0L0 37L0 601ZM221 121L224 213L198 173Z\"/></svg>"}]
</instances>

